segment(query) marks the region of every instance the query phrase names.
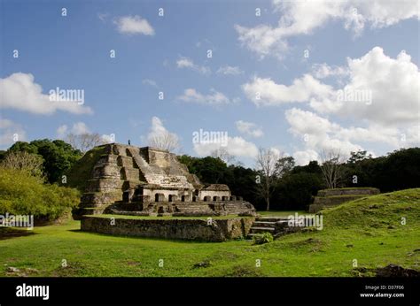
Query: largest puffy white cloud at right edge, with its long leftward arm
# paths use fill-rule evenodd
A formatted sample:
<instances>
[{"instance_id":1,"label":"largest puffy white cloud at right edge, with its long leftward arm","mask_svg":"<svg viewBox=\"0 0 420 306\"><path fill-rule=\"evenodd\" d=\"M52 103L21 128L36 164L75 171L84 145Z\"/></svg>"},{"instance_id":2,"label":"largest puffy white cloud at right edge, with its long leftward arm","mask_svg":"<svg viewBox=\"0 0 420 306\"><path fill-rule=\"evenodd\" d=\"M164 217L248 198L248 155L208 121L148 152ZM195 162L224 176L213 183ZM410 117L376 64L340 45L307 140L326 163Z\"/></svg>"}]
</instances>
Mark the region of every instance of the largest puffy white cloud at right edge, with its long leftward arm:
<instances>
[{"instance_id":1,"label":"largest puffy white cloud at right edge, with its long leftward arm","mask_svg":"<svg viewBox=\"0 0 420 306\"><path fill-rule=\"evenodd\" d=\"M360 58L347 58L346 67L318 66L317 77L345 74L345 84L334 88L311 74L277 84L255 77L242 88L256 105L303 103L319 113L368 121L381 126L411 125L418 122L420 72L404 51L388 57L375 47Z\"/></svg>"}]
</instances>

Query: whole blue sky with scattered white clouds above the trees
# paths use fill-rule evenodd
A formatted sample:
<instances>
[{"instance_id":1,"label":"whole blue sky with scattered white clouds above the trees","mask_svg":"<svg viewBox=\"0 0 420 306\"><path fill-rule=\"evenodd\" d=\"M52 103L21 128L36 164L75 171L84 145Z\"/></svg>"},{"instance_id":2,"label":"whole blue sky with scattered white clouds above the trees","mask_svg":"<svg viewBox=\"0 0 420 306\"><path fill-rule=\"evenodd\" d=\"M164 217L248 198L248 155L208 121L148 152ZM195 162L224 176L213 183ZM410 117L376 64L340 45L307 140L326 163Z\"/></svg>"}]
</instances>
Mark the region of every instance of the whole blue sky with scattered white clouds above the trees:
<instances>
[{"instance_id":1,"label":"whole blue sky with scattered white clouds above the trees","mask_svg":"<svg viewBox=\"0 0 420 306\"><path fill-rule=\"evenodd\" d=\"M228 132L247 165L259 147L306 164L323 149L418 146L418 16L416 1L3 0L0 149L13 134L144 146L163 131L180 153L211 154L217 143L191 141L199 129ZM84 103L52 106L57 87ZM371 103L337 101L346 87Z\"/></svg>"}]
</instances>

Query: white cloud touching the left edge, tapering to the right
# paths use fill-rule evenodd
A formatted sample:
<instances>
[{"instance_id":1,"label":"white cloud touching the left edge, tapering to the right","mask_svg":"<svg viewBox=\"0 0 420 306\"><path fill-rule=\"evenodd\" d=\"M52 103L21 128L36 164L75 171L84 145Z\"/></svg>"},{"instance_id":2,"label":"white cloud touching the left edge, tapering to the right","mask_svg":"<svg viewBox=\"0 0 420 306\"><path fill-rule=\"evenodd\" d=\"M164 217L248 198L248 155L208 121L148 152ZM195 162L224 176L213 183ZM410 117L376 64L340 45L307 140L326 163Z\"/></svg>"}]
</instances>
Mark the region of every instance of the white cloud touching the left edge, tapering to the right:
<instances>
[{"instance_id":1,"label":"white cloud touching the left edge, tapering to the right","mask_svg":"<svg viewBox=\"0 0 420 306\"><path fill-rule=\"evenodd\" d=\"M74 101L51 101L43 94L41 85L35 83L31 73L13 73L0 79L2 101L0 108L28 111L36 114L51 115L56 111L74 114L89 114L92 110Z\"/></svg>"}]
</instances>

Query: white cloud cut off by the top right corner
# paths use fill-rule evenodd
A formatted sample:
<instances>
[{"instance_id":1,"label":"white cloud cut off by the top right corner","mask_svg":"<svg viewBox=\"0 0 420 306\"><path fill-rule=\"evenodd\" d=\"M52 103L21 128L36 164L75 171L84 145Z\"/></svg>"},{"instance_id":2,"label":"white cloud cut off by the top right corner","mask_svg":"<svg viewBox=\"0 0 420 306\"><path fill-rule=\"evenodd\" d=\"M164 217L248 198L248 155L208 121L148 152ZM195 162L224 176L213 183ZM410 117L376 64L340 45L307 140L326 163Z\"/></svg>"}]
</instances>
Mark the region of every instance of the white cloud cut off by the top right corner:
<instances>
[{"instance_id":1,"label":"white cloud cut off by the top right corner","mask_svg":"<svg viewBox=\"0 0 420 306\"><path fill-rule=\"evenodd\" d=\"M404 19L419 18L417 0L273 0L273 5L275 11L282 13L275 27L235 26L239 42L261 58L268 55L284 57L290 37L311 34L331 20L342 20L346 29L359 35L366 25L389 27Z\"/></svg>"}]
</instances>

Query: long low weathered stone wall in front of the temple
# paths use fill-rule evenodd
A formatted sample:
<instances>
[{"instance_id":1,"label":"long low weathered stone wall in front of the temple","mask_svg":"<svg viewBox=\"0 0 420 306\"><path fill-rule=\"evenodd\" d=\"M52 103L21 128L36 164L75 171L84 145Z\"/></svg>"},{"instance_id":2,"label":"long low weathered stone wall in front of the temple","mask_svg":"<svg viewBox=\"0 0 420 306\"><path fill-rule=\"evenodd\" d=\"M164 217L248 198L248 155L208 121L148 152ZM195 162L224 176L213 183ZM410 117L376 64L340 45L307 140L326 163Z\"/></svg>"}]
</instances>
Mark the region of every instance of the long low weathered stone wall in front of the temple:
<instances>
[{"instance_id":1,"label":"long low weathered stone wall in front of the temple","mask_svg":"<svg viewBox=\"0 0 420 306\"><path fill-rule=\"evenodd\" d=\"M191 241L228 241L246 237L255 218L212 219L156 219L111 218L84 216L81 229L86 232L115 235L180 239Z\"/></svg>"}]
</instances>

